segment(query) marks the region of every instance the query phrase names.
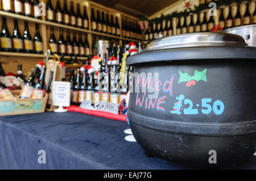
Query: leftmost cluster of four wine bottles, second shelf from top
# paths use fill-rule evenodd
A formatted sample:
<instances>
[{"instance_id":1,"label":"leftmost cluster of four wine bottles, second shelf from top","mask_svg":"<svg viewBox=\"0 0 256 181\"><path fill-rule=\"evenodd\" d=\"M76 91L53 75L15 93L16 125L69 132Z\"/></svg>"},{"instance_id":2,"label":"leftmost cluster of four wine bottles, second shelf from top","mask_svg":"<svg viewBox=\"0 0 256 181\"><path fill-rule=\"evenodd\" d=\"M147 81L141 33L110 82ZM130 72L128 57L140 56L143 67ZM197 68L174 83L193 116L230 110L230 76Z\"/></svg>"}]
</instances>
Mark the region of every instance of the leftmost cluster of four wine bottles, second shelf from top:
<instances>
[{"instance_id":1,"label":"leftmost cluster of four wine bottles, second shelf from top","mask_svg":"<svg viewBox=\"0 0 256 181\"><path fill-rule=\"evenodd\" d=\"M43 53L43 41L37 23L35 24L35 36L32 38L28 22L24 22L24 32L22 36L19 32L18 20L14 19L14 31L11 36L7 28L6 18L3 17L0 41L1 51L4 52Z\"/></svg>"}]
</instances>

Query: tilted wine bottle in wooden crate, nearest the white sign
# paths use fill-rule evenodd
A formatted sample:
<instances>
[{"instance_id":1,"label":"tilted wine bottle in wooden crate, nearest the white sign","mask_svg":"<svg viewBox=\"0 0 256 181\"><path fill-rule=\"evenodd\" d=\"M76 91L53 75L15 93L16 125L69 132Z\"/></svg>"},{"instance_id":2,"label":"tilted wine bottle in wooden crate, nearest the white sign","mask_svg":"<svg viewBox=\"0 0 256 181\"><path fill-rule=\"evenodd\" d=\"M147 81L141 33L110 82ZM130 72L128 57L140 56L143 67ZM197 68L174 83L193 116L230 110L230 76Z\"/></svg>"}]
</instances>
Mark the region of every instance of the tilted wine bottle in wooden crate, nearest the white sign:
<instances>
[{"instance_id":1,"label":"tilted wine bottle in wooden crate, nearest the white sign","mask_svg":"<svg viewBox=\"0 0 256 181\"><path fill-rule=\"evenodd\" d=\"M44 98L46 94L46 83L44 82L46 75L46 66L43 65L38 81L35 83L35 88L32 91L31 98Z\"/></svg>"}]
</instances>

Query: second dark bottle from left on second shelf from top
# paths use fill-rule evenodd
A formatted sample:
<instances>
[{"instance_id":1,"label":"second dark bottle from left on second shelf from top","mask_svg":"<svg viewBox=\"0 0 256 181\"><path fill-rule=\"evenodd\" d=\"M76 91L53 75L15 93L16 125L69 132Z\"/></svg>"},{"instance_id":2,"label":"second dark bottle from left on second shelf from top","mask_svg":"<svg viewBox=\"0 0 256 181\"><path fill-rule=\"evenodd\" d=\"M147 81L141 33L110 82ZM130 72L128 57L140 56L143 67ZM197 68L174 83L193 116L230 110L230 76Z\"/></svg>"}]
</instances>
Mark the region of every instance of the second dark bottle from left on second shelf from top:
<instances>
[{"instance_id":1,"label":"second dark bottle from left on second shelf from top","mask_svg":"<svg viewBox=\"0 0 256 181\"><path fill-rule=\"evenodd\" d=\"M13 50L14 52L23 52L23 39L19 33L18 20L16 19L14 19Z\"/></svg>"}]
</instances>

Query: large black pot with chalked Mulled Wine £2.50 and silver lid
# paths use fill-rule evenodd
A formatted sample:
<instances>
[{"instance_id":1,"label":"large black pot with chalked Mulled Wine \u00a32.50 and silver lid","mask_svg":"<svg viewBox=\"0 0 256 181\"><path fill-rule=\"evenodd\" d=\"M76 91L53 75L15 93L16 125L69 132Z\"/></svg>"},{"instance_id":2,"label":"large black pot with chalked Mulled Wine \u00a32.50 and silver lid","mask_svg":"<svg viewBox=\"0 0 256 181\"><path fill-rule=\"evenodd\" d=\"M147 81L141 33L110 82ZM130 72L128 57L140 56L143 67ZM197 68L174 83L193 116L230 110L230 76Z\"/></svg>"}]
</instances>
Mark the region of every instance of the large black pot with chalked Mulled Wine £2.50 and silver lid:
<instances>
[{"instance_id":1,"label":"large black pot with chalked Mulled Wine \u00a32.50 and silver lid","mask_svg":"<svg viewBox=\"0 0 256 181\"><path fill-rule=\"evenodd\" d=\"M250 159L256 150L255 61L256 48L228 33L164 37L130 56L126 64L141 75L127 111L137 142L147 154L185 165ZM159 82L152 86L143 73L159 73ZM156 99L148 89L141 92L151 86Z\"/></svg>"}]
</instances>

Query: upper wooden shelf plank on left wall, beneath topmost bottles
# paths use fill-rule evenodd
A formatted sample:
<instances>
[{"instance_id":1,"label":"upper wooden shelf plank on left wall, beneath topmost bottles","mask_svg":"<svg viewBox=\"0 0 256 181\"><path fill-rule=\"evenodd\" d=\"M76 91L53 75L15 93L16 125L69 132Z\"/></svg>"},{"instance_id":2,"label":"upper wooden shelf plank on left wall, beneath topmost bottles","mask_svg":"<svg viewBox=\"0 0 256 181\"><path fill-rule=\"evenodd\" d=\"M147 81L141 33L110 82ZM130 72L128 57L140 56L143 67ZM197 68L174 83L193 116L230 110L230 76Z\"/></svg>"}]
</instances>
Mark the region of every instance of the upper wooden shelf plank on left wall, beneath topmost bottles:
<instances>
[{"instance_id":1,"label":"upper wooden shelf plank on left wall, beneath topmost bottles","mask_svg":"<svg viewBox=\"0 0 256 181\"><path fill-rule=\"evenodd\" d=\"M7 16L7 17L10 17L10 18L22 19L22 20L26 20L28 22L46 24L47 26L65 28L65 29L68 29L68 30L75 30L75 31L80 31L80 32L85 32L85 33L92 33L93 35L100 35L100 36L105 36L105 37L112 37L114 39L121 39L121 40L127 40L127 41L134 41L134 42L141 42L141 43L143 43L143 41L127 39L127 38L121 37L121 36L108 35L108 34L96 32L96 31L89 31L89 30L85 30L83 28L77 28L77 27L72 27L72 26L68 26L68 25L65 25L65 24L49 22L47 20L31 18L29 16L23 16L23 15L15 14L15 13L12 13L12 12L0 11L0 15Z\"/></svg>"}]
</instances>

